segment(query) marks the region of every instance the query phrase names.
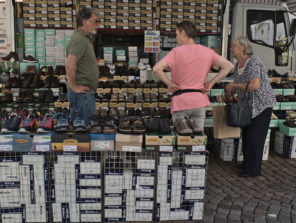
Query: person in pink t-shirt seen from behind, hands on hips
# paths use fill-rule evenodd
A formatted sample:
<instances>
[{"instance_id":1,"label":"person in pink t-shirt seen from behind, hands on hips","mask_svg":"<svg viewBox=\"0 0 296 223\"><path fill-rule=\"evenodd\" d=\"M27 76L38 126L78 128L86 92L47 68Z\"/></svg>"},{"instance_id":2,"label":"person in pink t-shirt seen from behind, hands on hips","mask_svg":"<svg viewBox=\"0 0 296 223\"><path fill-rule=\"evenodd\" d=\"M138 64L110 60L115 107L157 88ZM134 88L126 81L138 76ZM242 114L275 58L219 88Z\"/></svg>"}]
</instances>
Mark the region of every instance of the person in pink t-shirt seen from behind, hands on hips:
<instances>
[{"instance_id":1,"label":"person in pink t-shirt seen from behind, hands on hips","mask_svg":"<svg viewBox=\"0 0 296 223\"><path fill-rule=\"evenodd\" d=\"M173 94L171 102L173 122L183 115L194 119L195 123L203 128L205 106L210 105L205 92L209 92L216 82L224 78L233 68L233 64L214 50L195 44L195 34L194 23L190 21L178 23L176 29L178 47L173 48L158 61L153 67L153 72L172 93L176 94ZM215 78L205 83L210 68L215 65L221 67L221 70ZM165 76L163 69L170 69L172 80ZM187 92L184 92L185 89Z\"/></svg>"}]
</instances>

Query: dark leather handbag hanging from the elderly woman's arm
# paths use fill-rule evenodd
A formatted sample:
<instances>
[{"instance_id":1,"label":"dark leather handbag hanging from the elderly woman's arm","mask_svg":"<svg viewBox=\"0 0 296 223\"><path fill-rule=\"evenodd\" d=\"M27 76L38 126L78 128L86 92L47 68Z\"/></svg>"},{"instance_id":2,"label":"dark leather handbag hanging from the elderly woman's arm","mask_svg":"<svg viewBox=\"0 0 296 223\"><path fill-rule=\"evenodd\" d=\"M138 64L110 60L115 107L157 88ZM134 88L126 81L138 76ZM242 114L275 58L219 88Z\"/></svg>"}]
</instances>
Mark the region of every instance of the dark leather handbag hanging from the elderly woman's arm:
<instances>
[{"instance_id":1,"label":"dark leather handbag hanging from the elderly woman's arm","mask_svg":"<svg viewBox=\"0 0 296 223\"><path fill-rule=\"evenodd\" d=\"M224 85L224 92L225 91ZM249 99L250 99L250 92L248 94L248 98L245 99L247 89L249 86L249 82L247 83L246 90L244 91L244 97L241 101L235 101L234 95L231 91L233 101L227 100L226 97L226 109L227 109L227 119L226 125L231 127L243 127L248 126L251 124L251 115L249 109Z\"/></svg>"}]
</instances>

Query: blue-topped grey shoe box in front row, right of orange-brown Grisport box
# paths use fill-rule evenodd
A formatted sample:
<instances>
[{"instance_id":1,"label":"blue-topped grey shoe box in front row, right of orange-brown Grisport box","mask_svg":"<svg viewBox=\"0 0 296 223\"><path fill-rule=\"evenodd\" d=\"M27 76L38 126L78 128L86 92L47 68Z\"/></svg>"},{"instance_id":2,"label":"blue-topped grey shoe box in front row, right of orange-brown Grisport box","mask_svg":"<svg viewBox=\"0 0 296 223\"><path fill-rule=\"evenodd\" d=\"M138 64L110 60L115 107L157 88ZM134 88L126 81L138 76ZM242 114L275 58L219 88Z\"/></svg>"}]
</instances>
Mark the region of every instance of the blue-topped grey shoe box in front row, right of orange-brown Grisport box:
<instances>
[{"instance_id":1,"label":"blue-topped grey shoe box in front row, right of orange-brown Grisport box","mask_svg":"<svg viewBox=\"0 0 296 223\"><path fill-rule=\"evenodd\" d=\"M91 151L113 151L115 134L90 133Z\"/></svg>"}]
</instances>

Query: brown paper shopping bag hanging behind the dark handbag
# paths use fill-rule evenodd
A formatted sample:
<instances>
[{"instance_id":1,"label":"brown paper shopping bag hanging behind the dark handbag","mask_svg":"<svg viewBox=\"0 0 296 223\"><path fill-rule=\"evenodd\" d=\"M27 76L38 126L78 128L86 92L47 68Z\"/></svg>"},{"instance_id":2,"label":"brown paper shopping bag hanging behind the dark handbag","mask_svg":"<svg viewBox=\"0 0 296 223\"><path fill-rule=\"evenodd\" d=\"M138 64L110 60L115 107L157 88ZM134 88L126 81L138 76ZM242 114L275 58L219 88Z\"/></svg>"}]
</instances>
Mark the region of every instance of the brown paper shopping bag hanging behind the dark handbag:
<instances>
[{"instance_id":1,"label":"brown paper shopping bag hanging behind the dark handbag","mask_svg":"<svg viewBox=\"0 0 296 223\"><path fill-rule=\"evenodd\" d=\"M227 109L226 105L213 106L213 126L214 138L232 138L240 137L239 127L230 127L226 125Z\"/></svg>"}]
</instances>

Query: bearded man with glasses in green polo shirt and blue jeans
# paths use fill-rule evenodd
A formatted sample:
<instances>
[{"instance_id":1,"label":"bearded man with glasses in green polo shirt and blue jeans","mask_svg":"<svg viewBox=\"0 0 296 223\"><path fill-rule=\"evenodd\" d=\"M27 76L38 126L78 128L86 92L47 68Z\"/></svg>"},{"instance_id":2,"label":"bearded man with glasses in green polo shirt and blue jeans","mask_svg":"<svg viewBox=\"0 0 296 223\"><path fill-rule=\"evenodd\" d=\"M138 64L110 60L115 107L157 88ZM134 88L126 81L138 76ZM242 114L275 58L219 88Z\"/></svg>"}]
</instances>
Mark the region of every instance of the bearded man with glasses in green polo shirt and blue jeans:
<instances>
[{"instance_id":1,"label":"bearded man with glasses in green polo shirt and blue jeans","mask_svg":"<svg viewBox=\"0 0 296 223\"><path fill-rule=\"evenodd\" d=\"M89 118L96 114L99 69L91 35L96 34L100 26L99 12L94 8L82 8L77 13L76 23L77 28L66 46L66 84L70 117L78 112L88 125Z\"/></svg>"}]
</instances>

